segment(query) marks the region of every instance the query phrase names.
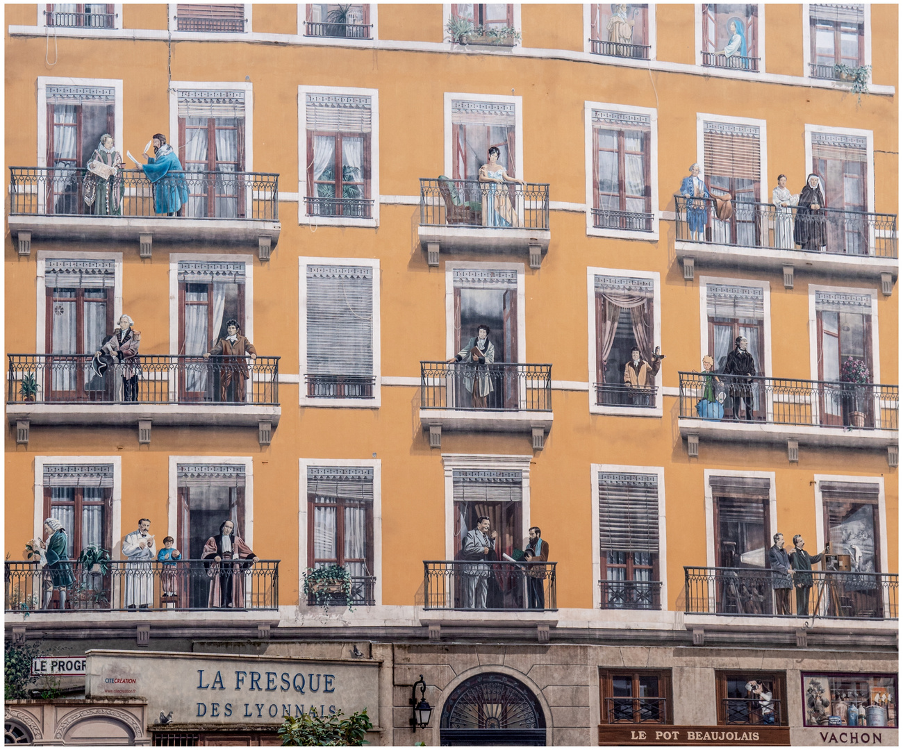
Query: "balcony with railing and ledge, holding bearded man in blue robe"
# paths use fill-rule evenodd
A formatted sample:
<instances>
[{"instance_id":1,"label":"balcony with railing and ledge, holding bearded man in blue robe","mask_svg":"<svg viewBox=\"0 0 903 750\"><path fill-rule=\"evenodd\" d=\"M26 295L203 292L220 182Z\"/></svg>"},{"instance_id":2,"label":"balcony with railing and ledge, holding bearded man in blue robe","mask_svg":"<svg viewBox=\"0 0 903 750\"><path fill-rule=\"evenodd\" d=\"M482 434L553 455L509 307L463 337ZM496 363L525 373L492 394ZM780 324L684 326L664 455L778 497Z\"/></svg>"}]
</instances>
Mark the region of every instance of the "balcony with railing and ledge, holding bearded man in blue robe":
<instances>
[{"instance_id":1,"label":"balcony with railing and ledge, holding bearded man in blue robe","mask_svg":"<svg viewBox=\"0 0 903 750\"><path fill-rule=\"evenodd\" d=\"M84 201L94 180L75 167L10 167L9 228L14 235L79 241L135 241L147 252L151 240L265 245L279 241L279 175L270 172L172 172L155 185L141 170L120 170L113 186L113 213L95 215ZM157 214L159 191L187 194L175 216ZM95 206L98 202L95 201ZM80 247L81 245L79 245ZM19 252L23 253L23 237Z\"/></svg>"}]
</instances>

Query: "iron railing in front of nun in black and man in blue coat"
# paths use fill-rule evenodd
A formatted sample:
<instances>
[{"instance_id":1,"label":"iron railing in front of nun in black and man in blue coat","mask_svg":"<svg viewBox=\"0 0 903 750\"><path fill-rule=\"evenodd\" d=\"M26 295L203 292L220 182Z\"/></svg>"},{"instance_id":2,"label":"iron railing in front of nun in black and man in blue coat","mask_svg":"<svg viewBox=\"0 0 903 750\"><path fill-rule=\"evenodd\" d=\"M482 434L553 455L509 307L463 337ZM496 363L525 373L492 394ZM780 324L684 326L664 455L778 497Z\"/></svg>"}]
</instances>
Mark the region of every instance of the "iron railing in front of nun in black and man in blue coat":
<instances>
[{"instance_id":1,"label":"iron railing in front of nun in black and man in blue coat","mask_svg":"<svg viewBox=\"0 0 903 750\"><path fill-rule=\"evenodd\" d=\"M733 216L717 218L714 200L675 195L675 239L710 245L768 247L811 253L897 257L897 215L732 201Z\"/></svg>"}]
</instances>

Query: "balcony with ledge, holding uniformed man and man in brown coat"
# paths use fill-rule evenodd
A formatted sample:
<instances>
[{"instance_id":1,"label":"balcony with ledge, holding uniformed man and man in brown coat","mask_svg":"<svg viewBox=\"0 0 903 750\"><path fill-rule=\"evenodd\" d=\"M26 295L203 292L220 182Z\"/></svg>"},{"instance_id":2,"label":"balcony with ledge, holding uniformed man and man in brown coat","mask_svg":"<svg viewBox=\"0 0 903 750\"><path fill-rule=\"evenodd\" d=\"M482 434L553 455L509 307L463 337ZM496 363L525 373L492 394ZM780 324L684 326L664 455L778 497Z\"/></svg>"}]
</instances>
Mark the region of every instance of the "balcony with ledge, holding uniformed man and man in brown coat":
<instances>
[{"instance_id":1,"label":"balcony with ledge, holding uniformed man and man in brown coat","mask_svg":"<svg viewBox=\"0 0 903 750\"><path fill-rule=\"evenodd\" d=\"M153 423L257 427L266 440L262 444L268 444L281 414L278 356L258 356L244 365L231 356L139 359L137 372L112 365L98 376L89 355L8 355L7 419L26 422L26 437L36 424L96 427L148 421L147 442Z\"/></svg>"}]
</instances>

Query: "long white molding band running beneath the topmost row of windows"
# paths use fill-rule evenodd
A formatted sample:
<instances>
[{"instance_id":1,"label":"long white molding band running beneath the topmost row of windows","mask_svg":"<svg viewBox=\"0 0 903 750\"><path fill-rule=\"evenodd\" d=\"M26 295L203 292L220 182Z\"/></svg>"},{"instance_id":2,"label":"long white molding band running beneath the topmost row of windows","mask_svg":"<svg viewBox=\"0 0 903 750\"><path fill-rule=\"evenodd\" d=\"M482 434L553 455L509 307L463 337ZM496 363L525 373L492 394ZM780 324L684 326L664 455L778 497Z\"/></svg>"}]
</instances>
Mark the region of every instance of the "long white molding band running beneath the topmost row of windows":
<instances>
[{"instance_id":1,"label":"long white molding band running beneath the topmost row of windows","mask_svg":"<svg viewBox=\"0 0 903 750\"><path fill-rule=\"evenodd\" d=\"M540 48L513 47L502 50L488 48L471 49L470 46L461 46L451 42L398 42L394 40L375 39L372 42L361 43L344 41L338 44L335 40L325 40L306 37L299 34L273 34L260 32L229 33L211 38L209 34L202 32L169 32L164 29L63 29L42 28L41 26L10 26L11 36L50 36L55 33L58 37L81 37L84 39L126 39L135 42L154 41L165 42L172 38L173 42L257 42L266 44L298 44L306 47L345 47L348 49L372 48L386 51L418 51L434 52L447 55L490 55L502 57L537 58L540 60L568 60L571 62L588 62L593 65L611 65L619 68L643 68L666 73L685 73L692 76L705 76L706 78L721 78L734 80L749 80L759 83L777 83L784 86L805 86L806 88L833 88L841 92L849 92L850 87L839 81L827 79L812 79L806 76L785 76L777 73L744 72L735 69L721 69L705 67L703 65L690 65L684 62L666 62L663 60L631 60L628 58L615 58L605 55L596 55L591 52L574 50L545 50ZM800 60L803 67L803 60ZM879 86L869 83L870 94L884 94L893 96L893 86Z\"/></svg>"}]
</instances>

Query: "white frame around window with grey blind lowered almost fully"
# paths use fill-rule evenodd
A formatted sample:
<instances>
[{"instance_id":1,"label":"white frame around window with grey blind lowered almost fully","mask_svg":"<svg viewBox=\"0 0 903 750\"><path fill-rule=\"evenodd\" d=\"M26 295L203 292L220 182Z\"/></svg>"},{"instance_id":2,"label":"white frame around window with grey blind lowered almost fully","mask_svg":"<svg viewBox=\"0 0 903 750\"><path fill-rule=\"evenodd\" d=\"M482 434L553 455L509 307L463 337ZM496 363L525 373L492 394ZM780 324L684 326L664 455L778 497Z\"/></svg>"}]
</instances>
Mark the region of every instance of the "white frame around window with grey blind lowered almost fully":
<instances>
[{"instance_id":1,"label":"white frame around window with grey blind lowered almost fully","mask_svg":"<svg viewBox=\"0 0 903 750\"><path fill-rule=\"evenodd\" d=\"M307 266L358 265L373 269L373 398L315 398L307 395L304 375L307 371ZM381 289L379 260L374 258L298 258L298 403L323 408L378 409L382 403L382 371L380 352L379 292Z\"/></svg>"}]
</instances>

